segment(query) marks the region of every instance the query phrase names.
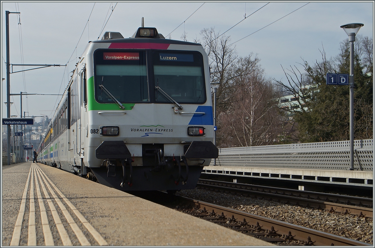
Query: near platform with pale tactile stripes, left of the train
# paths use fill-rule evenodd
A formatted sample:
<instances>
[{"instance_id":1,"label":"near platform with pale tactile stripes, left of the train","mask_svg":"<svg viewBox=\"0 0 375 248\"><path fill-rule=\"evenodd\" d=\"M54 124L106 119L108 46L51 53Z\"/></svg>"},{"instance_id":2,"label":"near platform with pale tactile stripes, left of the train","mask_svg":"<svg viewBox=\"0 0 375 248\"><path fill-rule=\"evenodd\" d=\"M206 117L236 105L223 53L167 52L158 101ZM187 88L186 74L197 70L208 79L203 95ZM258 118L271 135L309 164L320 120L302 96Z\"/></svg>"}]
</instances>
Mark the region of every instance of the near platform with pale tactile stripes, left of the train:
<instances>
[{"instance_id":1,"label":"near platform with pale tactile stripes, left of the train","mask_svg":"<svg viewBox=\"0 0 375 248\"><path fill-rule=\"evenodd\" d=\"M272 244L43 164L2 166L2 246Z\"/></svg>"}]
</instances>

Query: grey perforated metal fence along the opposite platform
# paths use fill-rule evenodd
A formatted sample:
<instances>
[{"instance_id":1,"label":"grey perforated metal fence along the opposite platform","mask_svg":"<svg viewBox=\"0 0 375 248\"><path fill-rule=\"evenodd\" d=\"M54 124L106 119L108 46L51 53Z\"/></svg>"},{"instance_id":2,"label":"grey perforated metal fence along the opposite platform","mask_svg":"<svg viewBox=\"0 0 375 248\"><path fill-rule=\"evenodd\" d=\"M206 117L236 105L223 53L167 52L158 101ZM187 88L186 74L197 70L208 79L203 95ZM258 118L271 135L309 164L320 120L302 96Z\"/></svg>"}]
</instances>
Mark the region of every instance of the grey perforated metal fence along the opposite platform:
<instances>
[{"instance_id":1,"label":"grey perforated metal fence along the opposite platform","mask_svg":"<svg viewBox=\"0 0 375 248\"><path fill-rule=\"evenodd\" d=\"M219 149L216 165L349 170L349 141L283 144ZM354 140L354 169L373 171L374 140ZM211 164L213 165L213 159Z\"/></svg>"}]
</instances>

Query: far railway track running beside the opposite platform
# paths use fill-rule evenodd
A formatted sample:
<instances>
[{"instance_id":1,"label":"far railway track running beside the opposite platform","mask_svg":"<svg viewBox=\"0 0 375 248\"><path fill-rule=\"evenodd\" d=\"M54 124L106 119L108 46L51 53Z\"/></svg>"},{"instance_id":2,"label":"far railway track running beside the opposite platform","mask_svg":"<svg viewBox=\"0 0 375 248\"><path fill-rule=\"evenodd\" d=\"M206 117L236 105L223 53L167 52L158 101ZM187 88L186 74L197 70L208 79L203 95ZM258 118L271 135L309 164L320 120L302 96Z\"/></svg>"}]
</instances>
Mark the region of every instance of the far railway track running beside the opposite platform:
<instances>
[{"instance_id":1,"label":"far railway track running beside the opposite platform","mask_svg":"<svg viewBox=\"0 0 375 248\"><path fill-rule=\"evenodd\" d=\"M367 218L372 218L373 216L373 200L371 198L248 185L242 183L220 182L205 179L199 179L197 187L232 194L261 197L268 200L295 204L297 206L324 209L330 212L342 214L352 214L361 217L365 216Z\"/></svg>"}]
</instances>

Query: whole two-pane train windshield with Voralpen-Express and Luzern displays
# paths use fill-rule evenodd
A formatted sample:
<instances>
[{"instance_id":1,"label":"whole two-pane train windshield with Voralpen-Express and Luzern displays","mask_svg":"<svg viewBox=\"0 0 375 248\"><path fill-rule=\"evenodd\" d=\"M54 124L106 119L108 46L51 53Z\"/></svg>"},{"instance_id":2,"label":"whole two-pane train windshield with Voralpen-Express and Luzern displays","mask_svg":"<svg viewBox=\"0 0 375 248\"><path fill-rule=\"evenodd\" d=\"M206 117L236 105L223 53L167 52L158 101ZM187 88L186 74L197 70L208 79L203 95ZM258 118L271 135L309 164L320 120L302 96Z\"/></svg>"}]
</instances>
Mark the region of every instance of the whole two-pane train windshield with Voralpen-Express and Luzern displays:
<instances>
[{"instance_id":1,"label":"whole two-pane train windshield with Voralpen-Express and Luzern displays","mask_svg":"<svg viewBox=\"0 0 375 248\"><path fill-rule=\"evenodd\" d=\"M158 102L202 104L206 101L203 56L195 51L95 51L95 99L99 103ZM153 75L150 74L153 72ZM147 80L150 77L151 80ZM109 96L103 87L113 96ZM149 90L151 89L151 90ZM150 101L149 92L155 94ZM115 100L114 100L115 99Z\"/></svg>"}]
</instances>

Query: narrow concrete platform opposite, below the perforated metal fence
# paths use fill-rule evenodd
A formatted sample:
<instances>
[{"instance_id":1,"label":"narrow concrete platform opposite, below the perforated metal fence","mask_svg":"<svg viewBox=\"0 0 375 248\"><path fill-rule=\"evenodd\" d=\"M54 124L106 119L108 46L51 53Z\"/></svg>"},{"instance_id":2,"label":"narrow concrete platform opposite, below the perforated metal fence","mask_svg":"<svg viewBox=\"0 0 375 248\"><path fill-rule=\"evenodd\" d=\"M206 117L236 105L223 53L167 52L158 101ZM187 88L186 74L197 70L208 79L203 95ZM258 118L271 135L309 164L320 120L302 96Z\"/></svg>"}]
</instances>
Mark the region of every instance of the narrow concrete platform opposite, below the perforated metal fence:
<instances>
[{"instance_id":1,"label":"narrow concrete platform opposite, below the perforated metal fence","mask_svg":"<svg viewBox=\"0 0 375 248\"><path fill-rule=\"evenodd\" d=\"M299 190L307 191L336 187L372 192L373 176L372 171L210 165L203 168L201 178L239 183L270 182L294 185Z\"/></svg>"}]
</instances>

